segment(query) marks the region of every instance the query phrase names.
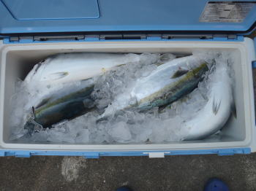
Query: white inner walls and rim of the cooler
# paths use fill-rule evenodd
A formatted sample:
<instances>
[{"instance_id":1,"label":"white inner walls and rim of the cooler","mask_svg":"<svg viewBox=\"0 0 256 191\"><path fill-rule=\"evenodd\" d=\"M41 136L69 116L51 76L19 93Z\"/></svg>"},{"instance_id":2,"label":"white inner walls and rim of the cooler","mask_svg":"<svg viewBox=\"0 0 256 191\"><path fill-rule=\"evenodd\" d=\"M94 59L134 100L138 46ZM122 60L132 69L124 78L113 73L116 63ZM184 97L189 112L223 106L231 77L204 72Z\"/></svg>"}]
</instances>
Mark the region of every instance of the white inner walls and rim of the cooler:
<instances>
[{"instance_id":1,"label":"white inner walls and rim of the cooler","mask_svg":"<svg viewBox=\"0 0 256 191\"><path fill-rule=\"evenodd\" d=\"M245 42L77 42L45 44L0 44L1 45L1 119L0 148L12 149L193 149L211 147L245 147L251 141L254 127L252 111L252 74L250 68L249 47L251 41ZM32 67L49 55L60 52L172 52L189 54L193 50L230 50L236 52L233 69L236 85L234 98L237 118L230 120L222 128L220 140L204 139L182 141L167 144L107 144L107 145L71 145L53 143L20 143L10 141L10 98L14 93L15 81L24 79Z\"/></svg>"}]
</instances>

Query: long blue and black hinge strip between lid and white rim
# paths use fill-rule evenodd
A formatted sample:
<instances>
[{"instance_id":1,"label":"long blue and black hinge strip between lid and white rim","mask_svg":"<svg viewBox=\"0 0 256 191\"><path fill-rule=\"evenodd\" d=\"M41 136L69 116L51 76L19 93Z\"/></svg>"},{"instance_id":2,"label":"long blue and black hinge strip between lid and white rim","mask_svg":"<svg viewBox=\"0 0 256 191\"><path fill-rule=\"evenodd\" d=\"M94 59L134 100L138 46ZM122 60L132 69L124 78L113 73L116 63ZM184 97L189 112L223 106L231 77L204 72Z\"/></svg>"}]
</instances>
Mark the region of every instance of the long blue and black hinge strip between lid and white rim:
<instances>
[{"instance_id":1,"label":"long blue and black hinge strip between lid and white rim","mask_svg":"<svg viewBox=\"0 0 256 191\"><path fill-rule=\"evenodd\" d=\"M66 35L66 36L10 36L4 38L4 43L31 42L95 42L108 40L216 40L241 41L242 36L235 34L95 34L95 35Z\"/></svg>"}]
</instances>

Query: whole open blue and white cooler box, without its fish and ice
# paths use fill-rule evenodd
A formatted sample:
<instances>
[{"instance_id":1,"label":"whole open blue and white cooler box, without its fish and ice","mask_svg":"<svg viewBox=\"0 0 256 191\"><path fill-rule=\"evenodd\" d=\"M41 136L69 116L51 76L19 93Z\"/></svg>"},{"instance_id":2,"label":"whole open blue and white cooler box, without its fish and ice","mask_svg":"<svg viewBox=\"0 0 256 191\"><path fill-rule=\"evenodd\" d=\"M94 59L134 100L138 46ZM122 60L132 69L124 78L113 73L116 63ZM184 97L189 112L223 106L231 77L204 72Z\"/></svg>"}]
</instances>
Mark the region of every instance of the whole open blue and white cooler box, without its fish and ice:
<instances>
[{"instance_id":1,"label":"whole open blue and white cooler box, without its fish and ice","mask_svg":"<svg viewBox=\"0 0 256 191\"><path fill-rule=\"evenodd\" d=\"M0 155L149 156L248 154L256 151L252 66L255 43L245 37L256 1L1 0ZM219 140L162 144L53 144L10 141L10 97L15 80L60 52L173 52L231 50L237 119Z\"/></svg>"}]
</instances>

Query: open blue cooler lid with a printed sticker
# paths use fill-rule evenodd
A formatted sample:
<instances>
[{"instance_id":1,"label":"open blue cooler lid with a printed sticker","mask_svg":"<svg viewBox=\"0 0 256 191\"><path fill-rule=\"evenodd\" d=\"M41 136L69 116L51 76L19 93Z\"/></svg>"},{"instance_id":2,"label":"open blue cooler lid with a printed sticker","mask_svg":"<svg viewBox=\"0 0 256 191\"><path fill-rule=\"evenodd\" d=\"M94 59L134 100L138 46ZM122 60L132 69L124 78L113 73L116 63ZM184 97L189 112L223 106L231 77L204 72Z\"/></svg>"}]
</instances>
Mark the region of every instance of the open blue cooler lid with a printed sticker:
<instances>
[{"instance_id":1,"label":"open blue cooler lid with a printed sticker","mask_svg":"<svg viewBox=\"0 0 256 191\"><path fill-rule=\"evenodd\" d=\"M256 1L0 0L0 34L90 31L245 33Z\"/></svg>"}]
</instances>

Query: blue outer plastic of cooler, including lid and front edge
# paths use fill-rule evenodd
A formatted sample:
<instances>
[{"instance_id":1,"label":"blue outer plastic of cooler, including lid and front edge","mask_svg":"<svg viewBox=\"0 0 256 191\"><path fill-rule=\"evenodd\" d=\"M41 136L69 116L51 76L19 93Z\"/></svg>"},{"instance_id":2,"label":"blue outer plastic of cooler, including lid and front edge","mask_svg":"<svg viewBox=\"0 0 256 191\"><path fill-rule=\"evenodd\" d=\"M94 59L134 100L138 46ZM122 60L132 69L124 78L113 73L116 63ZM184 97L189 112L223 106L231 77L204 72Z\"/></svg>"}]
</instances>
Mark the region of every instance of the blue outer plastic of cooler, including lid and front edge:
<instances>
[{"instance_id":1,"label":"blue outer plastic of cooler, including lid and front edge","mask_svg":"<svg viewBox=\"0 0 256 191\"><path fill-rule=\"evenodd\" d=\"M203 18L209 9L208 4L233 4L233 2L236 1L0 0L0 38L4 44L145 41L243 42L244 35L252 33L255 27L256 1L238 1L246 4L244 13L239 18L227 17L226 20L219 18L218 21L216 17ZM254 41L256 50L256 38ZM256 63L252 62L252 66L256 68ZM30 157L31 155L67 155L86 158L165 157L165 155L249 153L251 153L251 147L194 150L153 149L124 152L48 151L44 148L39 150L0 149L0 156L15 157Z\"/></svg>"}]
</instances>

